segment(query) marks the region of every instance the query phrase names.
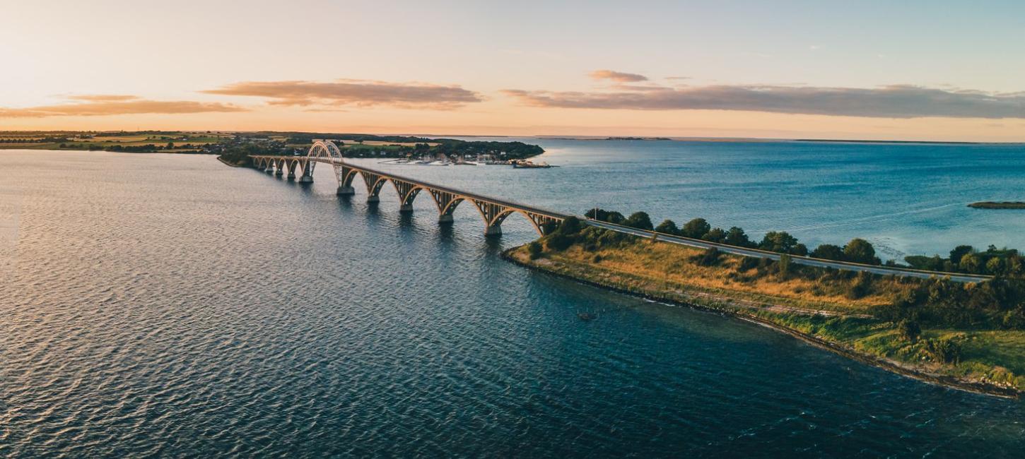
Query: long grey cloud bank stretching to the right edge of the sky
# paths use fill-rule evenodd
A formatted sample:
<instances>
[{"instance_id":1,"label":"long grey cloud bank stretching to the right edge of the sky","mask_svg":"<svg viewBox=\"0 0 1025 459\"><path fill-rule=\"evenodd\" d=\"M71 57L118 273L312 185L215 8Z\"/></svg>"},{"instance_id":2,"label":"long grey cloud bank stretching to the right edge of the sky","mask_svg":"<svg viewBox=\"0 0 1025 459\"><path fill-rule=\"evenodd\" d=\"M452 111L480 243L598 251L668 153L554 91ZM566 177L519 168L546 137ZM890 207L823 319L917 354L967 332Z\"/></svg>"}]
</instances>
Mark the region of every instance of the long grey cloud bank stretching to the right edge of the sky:
<instances>
[{"instance_id":1,"label":"long grey cloud bank stretching to the right edge of the sky","mask_svg":"<svg viewBox=\"0 0 1025 459\"><path fill-rule=\"evenodd\" d=\"M527 91L504 94L530 107L607 110L738 110L874 118L1025 118L1025 94L910 85L837 88L771 85L660 87L658 90Z\"/></svg>"}]
</instances>

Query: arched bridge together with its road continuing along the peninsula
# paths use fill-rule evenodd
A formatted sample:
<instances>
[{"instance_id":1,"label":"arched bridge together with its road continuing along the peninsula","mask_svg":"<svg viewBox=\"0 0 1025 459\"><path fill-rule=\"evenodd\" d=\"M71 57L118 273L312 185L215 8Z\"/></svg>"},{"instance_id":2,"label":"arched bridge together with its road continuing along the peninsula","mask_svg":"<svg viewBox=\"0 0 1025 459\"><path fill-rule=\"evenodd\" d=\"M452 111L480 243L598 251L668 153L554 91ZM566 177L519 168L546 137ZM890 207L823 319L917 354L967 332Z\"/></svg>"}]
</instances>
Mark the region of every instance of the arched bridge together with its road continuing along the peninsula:
<instances>
[{"instance_id":1,"label":"arched bridge together with its road continuing along the peninsula","mask_svg":"<svg viewBox=\"0 0 1025 459\"><path fill-rule=\"evenodd\" d=\"M384 186L386 182L391 182L399 195L400 212L412 212L413 200L416 199L420 192L426 192L430 195L432 199L434 199L435 205L438 208L438 221L443 223L451 222L452 212L455 211L456 206L462 202L468 201L473 203L474 207L476 207L480 212L481 218L484 219L485 235L500 235L502 233L502 221L505 220L505 217L514 213L520 213L526 216L534 225L534 230L536 230L541 236L547 234L551 228L556 227L558 223L570 216L569 214L554 212L484 195L458 191L447 186L427 183L414 178L404 177L346 163L342 160L341 151L338 150L338 147L330 141L315 141L313 147L310 148L310 152L306 156L252 156L250 158L252 158L253 165L257 169L263 170L270 174L277 174L279 176L284 175L285 171L287 171L289 179L295 179L296 173L298 173L299 182L304 183L314 181L313 173L317 164L330 164L334 168L335 177L338 179L338 195L355 195L356 189L353 186L353 180L357 175L360 175L367 189L367 202L378 202L380 200L379 195L381 187ZM766 250L729 246L726 244L702 241L699 239L666 235L664 233L656 233L648 230L639 230L589 218L581 218L581 220L592 226L618 233L625 233L640 238L651 239L653 241L661 241L664 243L679 244L702 249L715 248L716 250L721 250L725 253L735 255L770 258L776 260L780 258L779 253L769 252ZM852 263L848 261L827 260L798 255L791 255L790 260L794 263L809 266L866 272L881 276L925 279L934 276L950 277L952 281L956 282L983 282L993 278L992 276L970 275L963 273L941 273L906 267Z\"/></svg>"}]
</instances>

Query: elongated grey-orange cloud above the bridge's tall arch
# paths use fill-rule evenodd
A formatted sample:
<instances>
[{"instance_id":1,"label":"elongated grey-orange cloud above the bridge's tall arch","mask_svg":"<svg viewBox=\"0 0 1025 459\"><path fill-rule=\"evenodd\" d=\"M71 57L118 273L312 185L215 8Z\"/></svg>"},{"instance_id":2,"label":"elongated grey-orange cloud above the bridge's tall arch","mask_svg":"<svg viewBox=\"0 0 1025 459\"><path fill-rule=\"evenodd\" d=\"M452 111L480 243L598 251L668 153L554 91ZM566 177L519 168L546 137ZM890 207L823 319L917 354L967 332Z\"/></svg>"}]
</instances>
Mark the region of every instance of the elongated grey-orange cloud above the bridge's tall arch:
<instances>
[{"instance_id":1,"label":"elongated grey-orange cloud above the bridge's tall arch","mask_svg":"<svg viewBox=\"0 0 1025 459\"><path fill-rule=\"evenodd\" d=\"M246 81L208 94L265 97L273 106L392 106L400 108L454 109L483 98L459 86L383 81Z\"/></svg>"}]
</instances>

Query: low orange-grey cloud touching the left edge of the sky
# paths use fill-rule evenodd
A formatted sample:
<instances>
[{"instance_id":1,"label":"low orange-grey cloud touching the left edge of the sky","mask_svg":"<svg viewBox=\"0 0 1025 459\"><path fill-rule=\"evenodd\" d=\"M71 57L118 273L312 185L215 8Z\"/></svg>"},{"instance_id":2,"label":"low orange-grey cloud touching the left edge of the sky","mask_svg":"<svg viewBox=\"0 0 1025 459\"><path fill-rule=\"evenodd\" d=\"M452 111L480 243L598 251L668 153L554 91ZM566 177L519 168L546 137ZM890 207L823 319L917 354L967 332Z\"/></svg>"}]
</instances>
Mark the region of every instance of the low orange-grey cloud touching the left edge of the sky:
<instances>
[{"instance_id":1,"label":"low orange-grey cloud touching the left edge of the sky","mask_svg":"<svg viewBox=\"0 0 1025 459\"><path fill-rule=\"evenodd\" d=\"M5 109L0 118L97 117L108 115L190 114L209 112L245 112L231 103L193 100L147 100L134 95L73 95L71 103Z\"/></svg>"}]
</instances>

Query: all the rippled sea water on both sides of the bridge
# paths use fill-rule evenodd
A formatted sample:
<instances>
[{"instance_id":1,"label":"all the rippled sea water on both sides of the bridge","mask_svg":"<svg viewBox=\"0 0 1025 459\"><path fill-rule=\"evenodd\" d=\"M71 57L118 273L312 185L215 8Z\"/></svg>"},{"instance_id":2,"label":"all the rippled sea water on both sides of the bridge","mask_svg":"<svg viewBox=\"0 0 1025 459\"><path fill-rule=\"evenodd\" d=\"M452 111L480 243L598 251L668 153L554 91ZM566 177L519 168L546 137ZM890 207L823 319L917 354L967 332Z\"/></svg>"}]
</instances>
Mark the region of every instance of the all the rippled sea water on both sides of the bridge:
<instances>
[{"instance_id":1,"label":"all the rippled sea water on both sides of the bridge","mask_svg":"<svg viewBox=\"0 0 1025 459\"><path fill-rule=\"evenodd\" d=\"M895 251L1025 246L1018 214L961 208L1025 198L1021 149L543 143L565 167L394 169ZM1020 402L508 264L498 252L533 237L517 217L485 240L469 206L450 228L425 196L400 217L391 189L378 206L339 200L327 168L304 187L212 157L0 158L0 456L1025 449Z\"/></svg>"}]
</instances>

